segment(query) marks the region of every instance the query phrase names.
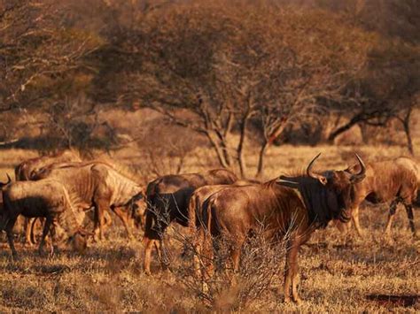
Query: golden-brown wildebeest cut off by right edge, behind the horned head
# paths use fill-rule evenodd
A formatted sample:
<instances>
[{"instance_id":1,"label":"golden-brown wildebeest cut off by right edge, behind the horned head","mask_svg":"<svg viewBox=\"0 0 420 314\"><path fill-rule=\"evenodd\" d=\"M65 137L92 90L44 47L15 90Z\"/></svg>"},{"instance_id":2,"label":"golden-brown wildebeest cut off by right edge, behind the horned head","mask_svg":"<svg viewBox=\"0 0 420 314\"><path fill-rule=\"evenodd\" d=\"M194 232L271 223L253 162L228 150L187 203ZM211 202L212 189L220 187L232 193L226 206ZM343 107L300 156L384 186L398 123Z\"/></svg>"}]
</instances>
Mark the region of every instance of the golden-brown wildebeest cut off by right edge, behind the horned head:
<instances>
[{"instance_id":1,"label":"golden-brown wildebeest cut off by right edge, behind the horned head","mask_svg":"<svg viewBox=\"0 0 420 314\"><path fill-rule=\"evenodd\" d=\"M344 171L329 171L323 175L328 180L340 181L351 177L354 172L360 171L360 165L353 165ZM409 220L411 232L416 235L414 224L413 203L418 197L420 184L420 170L416 162L408 157L398 157L366 165L366 179L354 185L352 202L349 204L350 212L357 233L362 235L359 224L359 206L367 200L369 203L390 203L388 222L385 234L390 234L393 217L398 203L404 204ZM347 227L350 223L347 223ZM338 228L343 231L343 224L338 222Z\"/></svg>"}]
</instances>

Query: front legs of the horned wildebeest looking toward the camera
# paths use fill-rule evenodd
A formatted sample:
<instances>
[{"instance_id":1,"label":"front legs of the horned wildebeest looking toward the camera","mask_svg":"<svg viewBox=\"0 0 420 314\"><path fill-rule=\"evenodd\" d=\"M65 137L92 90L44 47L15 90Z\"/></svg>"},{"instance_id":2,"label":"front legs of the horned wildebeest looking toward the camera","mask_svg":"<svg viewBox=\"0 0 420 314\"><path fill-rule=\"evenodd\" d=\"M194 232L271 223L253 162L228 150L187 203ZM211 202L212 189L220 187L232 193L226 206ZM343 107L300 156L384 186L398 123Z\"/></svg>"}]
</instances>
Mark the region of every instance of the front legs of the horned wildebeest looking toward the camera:
<instances>
[{"instance_id":1,"label":"front legs of the horned wildebeest looking toward the camera","mask_svg":"<svg viewBox=\"0 0 420 314\"><path fill-rule=\"evenodd\" d=\"M292 285L292 297L295 303L300 303L298 294L299 284L299 240L292 239L287 241L286 265L285 265L285 278L284 278L284 302L290 302L290 287Z\"/></svg>"}]
</instances>

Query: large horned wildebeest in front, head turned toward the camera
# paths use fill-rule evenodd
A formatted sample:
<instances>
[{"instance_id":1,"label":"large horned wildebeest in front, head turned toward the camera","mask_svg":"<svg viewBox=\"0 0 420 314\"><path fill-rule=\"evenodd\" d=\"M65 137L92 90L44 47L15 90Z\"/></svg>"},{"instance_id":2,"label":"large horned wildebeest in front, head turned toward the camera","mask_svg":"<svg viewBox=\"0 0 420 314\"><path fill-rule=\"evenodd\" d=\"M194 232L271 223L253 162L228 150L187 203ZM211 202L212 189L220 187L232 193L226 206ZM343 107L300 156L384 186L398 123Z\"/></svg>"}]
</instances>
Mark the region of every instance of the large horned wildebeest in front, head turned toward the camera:
<instances>
[{"instance_id":1,"label":"large horned wildebeest in front, head turned toward the camera","mask_svg":"<svg viewBox=\"0 0 420 314\"><path fill-rule=\"evenodd\" d=\"M319 156L319 155L318 155ZM263 229L263 236L276 243L285 237L286 265L284 299L299 303L298 251L317 228L328 225L331 219L346 221L346 203L349 191L364 178L362 170L336 185L333 181L316 176L311 168L316 156L307 166L307 175L281 176L264 184L223 188L211 195L203 208L200 237L203 245L213 237L223 237L229 243L234 271L239 268L240 250L248 236ZM293 189L297 188L299 194ZM208 244L206 244L208 247ZM208 258L213 259L213 254ZM213 272L210 263L203 277Z\"/></svg>"}]
</instances>

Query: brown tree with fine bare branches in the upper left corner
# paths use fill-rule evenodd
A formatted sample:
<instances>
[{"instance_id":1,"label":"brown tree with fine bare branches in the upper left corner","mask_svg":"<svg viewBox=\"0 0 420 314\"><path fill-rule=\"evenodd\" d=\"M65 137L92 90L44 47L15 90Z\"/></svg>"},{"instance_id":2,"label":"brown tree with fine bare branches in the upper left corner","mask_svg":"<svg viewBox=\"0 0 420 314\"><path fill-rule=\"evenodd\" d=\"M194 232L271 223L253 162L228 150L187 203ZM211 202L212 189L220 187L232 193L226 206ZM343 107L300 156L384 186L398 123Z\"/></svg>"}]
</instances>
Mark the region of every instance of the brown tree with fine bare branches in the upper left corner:
<instances>
[{"instance_id":1,"label":"brown tree with fine bare branches in the upper left corner","mask_svg":"<svg viewBox=\"0 0 420 314\"><path fill-rule=\"evenodd\" d=\"M66 14L59 2L0 2L1 112L48 115L66 96L89 87L92 71L86 57L101 41L81 28L68 27Z\"/></svg>"}]
</instances>

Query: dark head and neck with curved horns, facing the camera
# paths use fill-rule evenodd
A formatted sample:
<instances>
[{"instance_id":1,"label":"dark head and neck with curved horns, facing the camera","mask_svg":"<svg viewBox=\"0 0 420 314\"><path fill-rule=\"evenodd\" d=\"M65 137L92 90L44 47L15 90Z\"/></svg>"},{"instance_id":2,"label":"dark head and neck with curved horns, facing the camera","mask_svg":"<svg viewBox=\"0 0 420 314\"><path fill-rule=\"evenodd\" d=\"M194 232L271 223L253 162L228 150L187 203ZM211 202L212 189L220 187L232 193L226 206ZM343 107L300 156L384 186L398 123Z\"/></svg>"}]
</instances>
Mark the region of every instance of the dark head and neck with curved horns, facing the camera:
<instances>
[{"instance_id":1,"label":"dark head and neck with curved horns, facing the camera","mask_svg":"<svg viewBox=\"0 0 420 314\"><path fill-rule=\"evenodd\" d=\"M351 208L354 194L354 184L365 177L366 167L362 158L356 154L361 165L361 171L350 173L346 171L329 171L323 174L312 170L315 160L307 166L307 175L298 177L280 176L278 184L299 189L305 202L310 220L315 227L325 227L331 219L348 221L347 210Z\"/></svg>"}]
</instances>

